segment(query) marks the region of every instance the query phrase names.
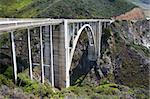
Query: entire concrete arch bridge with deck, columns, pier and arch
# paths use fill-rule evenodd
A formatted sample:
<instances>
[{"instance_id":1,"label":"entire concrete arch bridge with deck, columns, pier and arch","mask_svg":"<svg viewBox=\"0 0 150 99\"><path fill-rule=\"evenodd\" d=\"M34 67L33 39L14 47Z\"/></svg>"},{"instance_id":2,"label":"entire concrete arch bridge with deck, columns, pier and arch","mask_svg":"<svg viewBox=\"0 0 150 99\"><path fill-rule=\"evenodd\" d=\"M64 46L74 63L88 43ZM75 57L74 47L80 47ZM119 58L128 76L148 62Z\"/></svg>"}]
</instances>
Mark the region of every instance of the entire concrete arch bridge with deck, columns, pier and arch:
<instances>
[{"instance_id":1,"label":"entire concrete arch bridge with deck, columns, pier and arch","mask_svg":"<svg viewBox=\"0 0 150 99\"><path fill-rule=\"evenodd\" d=\"M111 19L0 19L0 35L9 33L12 48L14 80L17 81L16 42L14 33L25 30L28 46L28 64L31 80L33 79L33 66L41 67L41 83L49 73L54 87L69 87L73 55L82 31L86 31L89 47L88 58L93 61L100 57L102 28L107 27ZM38 29L39 32L34 31ZM32 53L32 33L39 34L39 58L34 63ZM44 39L46 39L44 41ZM48 72L47 72L48 70Z\"/></svg>"}]
</instances>

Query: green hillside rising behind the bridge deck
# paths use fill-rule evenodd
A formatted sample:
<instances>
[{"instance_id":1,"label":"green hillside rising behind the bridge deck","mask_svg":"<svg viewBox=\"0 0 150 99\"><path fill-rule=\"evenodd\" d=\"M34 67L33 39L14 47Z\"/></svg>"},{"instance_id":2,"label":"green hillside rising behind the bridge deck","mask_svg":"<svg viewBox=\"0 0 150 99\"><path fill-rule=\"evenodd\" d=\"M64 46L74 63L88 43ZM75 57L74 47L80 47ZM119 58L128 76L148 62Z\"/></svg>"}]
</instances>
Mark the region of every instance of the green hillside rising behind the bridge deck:
<instances>
[{"instance_id":1,"label":"green hillside rising behind the bridge deck","mask_svg":"<svg viewBox=\"0 0 150 99\"><path fill-rule=\"evenodd\" d=\"M0 17L110 18L134 7L126 0L0 0Z\"/></svg>"}]
</instances>

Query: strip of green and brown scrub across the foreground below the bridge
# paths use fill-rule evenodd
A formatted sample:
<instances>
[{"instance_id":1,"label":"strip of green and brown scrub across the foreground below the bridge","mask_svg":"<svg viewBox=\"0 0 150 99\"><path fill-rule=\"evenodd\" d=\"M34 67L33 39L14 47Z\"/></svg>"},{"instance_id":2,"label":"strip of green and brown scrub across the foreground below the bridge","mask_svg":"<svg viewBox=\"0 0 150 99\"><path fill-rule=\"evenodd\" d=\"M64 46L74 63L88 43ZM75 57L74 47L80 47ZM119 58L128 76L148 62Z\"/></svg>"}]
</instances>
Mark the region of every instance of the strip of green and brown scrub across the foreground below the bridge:
<instances>
[{"instance_id":1,"label":"strip of green and brown scrub across the foreground below the bridge","mask_svg":"<svg viewBox=\"0 0 150 99\"><path fill-rule=\"evenodd\" d=\"M12 80L7 76L0 75L0 98L88 98L88 99L120 99L120 98L148 98L139 89L131 89L127 86L110 83L106 80L101 80L101 85L98 86L71 86L61 90L52 88L46 81L44 84L31 81L29 76L23 72L18 74L18 84L14 85ZM145 90L143 90L145 91Z\"/></svg>"}]
</instances>

